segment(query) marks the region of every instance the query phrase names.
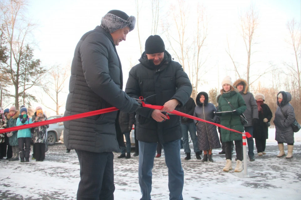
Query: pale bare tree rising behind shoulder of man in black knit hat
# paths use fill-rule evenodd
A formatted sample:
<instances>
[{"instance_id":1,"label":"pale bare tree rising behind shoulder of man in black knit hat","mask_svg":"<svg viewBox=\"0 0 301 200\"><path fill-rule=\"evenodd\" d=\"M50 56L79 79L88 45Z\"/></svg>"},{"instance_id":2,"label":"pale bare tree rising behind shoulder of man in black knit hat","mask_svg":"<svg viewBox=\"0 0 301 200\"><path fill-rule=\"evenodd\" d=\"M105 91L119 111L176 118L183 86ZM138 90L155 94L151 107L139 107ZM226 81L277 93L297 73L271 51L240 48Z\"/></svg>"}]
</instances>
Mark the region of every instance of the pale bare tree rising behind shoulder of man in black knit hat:
<instances>
[{"instance_id":1,"label":"pale bare tree rising behind shoulder of man in black knit hat","mask_svg":"<svg viewBox=\"0 0 301 200\"><path fill-rule=\"evenodd\" d=\"M178 0L177 6L172 6L173 24L172 26L167 26L165 30L173 53L192 83L192 98L195 98L198 93L198 85L202 76L209 71L209 68L203 68L206 58L203 59L202 48L207 38L208 27L207 18L204 14L205 8L201 5L197 5L195 8L197 14L197 17L195 17L197 21L195 21L195 26L193 26L196 27L195 29L191 29L187 23L190 20L190 12L188 11L186 2ZM187 30L189 32L186 32ZM195 34L189 34L191 32L195 32Z\"/></svg>"}]
</instances>

